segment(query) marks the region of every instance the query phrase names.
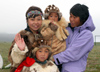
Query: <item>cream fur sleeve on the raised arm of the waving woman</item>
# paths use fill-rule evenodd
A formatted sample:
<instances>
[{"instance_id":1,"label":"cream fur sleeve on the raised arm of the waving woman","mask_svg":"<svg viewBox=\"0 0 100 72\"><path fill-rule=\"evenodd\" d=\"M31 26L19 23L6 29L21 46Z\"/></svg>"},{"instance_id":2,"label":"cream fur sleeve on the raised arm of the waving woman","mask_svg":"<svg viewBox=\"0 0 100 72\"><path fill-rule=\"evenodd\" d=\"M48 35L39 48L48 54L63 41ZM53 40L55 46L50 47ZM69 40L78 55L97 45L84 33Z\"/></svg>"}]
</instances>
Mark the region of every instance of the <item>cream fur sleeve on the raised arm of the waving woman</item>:
<instances>
[{"instance_id":1,"label":"cream fur sleeve on the raised arm of the waving woman","mask_svg":"<svg viewBox=\"0 0 100 72\"><path fill-rule=\"evenodd\" d=\"M21 61L25 58L25 54L26 52L28 52L28 48L27 46L25 47L24 51L21 51L17 44L14 44L14 47L12 48L12 52L11 52L11 58L13 60L13 63L21 63Z\"/></svg>"}]
</instances>

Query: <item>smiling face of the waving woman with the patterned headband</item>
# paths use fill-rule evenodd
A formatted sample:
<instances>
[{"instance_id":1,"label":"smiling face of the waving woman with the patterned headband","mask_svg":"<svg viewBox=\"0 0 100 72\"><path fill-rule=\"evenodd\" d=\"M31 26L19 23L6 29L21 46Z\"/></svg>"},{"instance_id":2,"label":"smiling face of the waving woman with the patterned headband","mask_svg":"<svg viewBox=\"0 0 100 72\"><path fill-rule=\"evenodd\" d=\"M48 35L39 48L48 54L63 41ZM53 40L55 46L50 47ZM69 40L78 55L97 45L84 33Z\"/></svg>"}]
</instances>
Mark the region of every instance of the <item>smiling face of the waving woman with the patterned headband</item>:
<instances>
[{"instance_id":1,"label":"smiling face of the waving woman with the patterned headband","mask_svg":"<svg viewBox=\"0 0 100 72\"><path fill-rule=\"evenodd\" d=\"M38 30L42 25L42 17L29 18L27 23L32 30Z\"/></svg>"}]
</instances>

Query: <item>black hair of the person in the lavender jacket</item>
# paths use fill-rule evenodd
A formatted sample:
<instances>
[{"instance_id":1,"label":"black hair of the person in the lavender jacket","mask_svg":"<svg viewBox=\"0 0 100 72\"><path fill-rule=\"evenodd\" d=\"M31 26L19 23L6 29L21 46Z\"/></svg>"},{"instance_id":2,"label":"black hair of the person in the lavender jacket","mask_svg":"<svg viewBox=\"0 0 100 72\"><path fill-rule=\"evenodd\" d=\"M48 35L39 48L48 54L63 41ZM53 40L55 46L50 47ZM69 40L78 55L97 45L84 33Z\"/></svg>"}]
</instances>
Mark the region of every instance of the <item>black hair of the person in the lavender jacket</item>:
<instances>
[{"instance_id":1,"label":"black hair of the person in the lavender jacket","mask_svg":"<svg viewBox=\"0 0 100 72\"><path fill-rule=\"evenodd\" d=\"M75 4L71 9L70 9L70 14L73 14L74 16L78 16L80 18L80 22L84 23L87 18L89 17L89 10L86 5L81 5L81 4Z\"/></svg>"}]
</instances>

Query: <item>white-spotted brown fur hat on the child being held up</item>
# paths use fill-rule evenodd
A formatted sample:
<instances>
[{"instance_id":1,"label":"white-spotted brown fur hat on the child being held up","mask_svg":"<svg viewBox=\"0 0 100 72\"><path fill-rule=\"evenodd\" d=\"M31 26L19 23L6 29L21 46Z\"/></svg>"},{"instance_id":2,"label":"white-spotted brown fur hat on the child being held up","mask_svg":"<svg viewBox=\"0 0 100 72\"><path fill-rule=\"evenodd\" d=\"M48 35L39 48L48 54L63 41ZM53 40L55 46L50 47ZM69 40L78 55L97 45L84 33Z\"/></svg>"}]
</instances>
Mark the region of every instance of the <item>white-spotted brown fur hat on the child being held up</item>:
<instances>
[{"instance_id":1,"label":"white-spotted brown fur hat on the child being held up","mask_svg":"<svg viewBox=\"0 0 100 72\"><path fill-rule=\"evenodd\" d=\"M61 19L62 17L62 13L60 12L59 8L56 7L55 5L49 5L46 9L45 9L45 12L44 12L44 18L45 19L48 19L48 16L51 12L56 12L58 13L58 18L59 20Z\"/></svg>"}]
</instances>

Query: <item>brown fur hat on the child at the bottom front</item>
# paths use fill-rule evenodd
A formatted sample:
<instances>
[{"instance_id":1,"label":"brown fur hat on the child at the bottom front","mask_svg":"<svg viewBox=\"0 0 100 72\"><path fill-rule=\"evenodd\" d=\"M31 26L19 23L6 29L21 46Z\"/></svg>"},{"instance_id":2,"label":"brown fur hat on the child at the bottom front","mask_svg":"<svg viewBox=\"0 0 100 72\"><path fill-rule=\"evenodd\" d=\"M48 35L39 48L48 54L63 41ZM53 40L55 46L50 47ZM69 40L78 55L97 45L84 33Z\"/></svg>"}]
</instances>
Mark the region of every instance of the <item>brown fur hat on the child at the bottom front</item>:
<instances>
[{"instance_id":1,"label":"brown fur hat on the child at the bottom front","mask_svg":"<svg viewBox=\"0 0 100 72\"><path fill-rule=\"evenodd\" d=\"M47 48L49 50L49 56L48 59L51 57L51 46L47 45L46 41L44 39L38 39L36 42L34 42L33 47L35 48L32 50L33 57L36 57L36 52L41 48Z\"/></svg>"}]
</instances>

